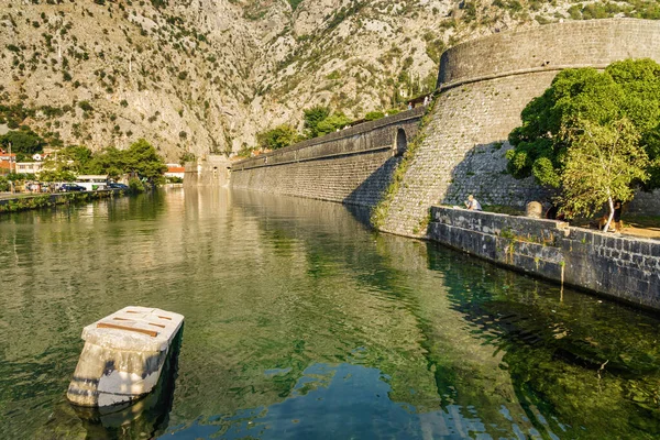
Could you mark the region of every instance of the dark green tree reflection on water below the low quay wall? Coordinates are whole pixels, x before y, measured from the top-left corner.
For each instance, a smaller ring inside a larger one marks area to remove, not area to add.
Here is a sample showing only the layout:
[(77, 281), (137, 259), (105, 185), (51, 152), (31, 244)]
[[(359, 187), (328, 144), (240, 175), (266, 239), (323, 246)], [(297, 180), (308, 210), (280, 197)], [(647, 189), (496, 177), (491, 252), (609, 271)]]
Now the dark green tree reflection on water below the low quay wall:
[(516, 399), (540, 432), (650, 438), (659, 431), (654, 318), (572, 292), (560, 301), (558, 287), (517, 275), (514, 282), (503, 270), (435, 264), (453, 308), (482, 343), (504, 354)]

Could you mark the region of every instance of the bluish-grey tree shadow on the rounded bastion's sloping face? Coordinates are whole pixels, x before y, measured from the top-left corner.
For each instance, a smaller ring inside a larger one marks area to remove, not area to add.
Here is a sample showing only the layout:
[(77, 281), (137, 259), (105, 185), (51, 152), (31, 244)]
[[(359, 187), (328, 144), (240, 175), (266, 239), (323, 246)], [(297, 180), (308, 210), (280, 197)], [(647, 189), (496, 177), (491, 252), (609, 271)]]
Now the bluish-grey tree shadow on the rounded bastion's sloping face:
[(534, 177), (516, 179), (506, 170), (507, 141), (477, 144), (452, 170), (443, 205), (463, 206), (469, 195), (482, 205), (525, 208), (530, 201), (549, 201), (549, 193)]

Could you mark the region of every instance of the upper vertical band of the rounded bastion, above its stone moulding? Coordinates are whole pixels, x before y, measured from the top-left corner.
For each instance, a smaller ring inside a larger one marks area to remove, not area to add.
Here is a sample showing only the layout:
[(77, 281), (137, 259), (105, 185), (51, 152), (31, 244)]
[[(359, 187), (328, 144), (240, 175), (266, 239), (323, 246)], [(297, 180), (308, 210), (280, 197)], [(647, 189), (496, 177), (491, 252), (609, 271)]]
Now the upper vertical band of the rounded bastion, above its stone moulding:
[(660, 22), (639, 19), (570, 21), (501, 32), (446, 51), (438, 86), (446, 89), (565, 68), (605, 68), (625, 58), (660, 59), (659, 38)]

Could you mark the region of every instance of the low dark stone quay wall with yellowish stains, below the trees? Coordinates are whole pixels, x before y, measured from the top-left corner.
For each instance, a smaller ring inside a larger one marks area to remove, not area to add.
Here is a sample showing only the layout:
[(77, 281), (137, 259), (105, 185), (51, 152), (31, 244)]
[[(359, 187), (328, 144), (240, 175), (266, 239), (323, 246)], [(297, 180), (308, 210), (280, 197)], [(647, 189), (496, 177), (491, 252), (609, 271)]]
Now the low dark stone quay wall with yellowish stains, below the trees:
[(431, 208), (428, 237), (510, 268), (660, 310), (660, 241), (461, 208)]

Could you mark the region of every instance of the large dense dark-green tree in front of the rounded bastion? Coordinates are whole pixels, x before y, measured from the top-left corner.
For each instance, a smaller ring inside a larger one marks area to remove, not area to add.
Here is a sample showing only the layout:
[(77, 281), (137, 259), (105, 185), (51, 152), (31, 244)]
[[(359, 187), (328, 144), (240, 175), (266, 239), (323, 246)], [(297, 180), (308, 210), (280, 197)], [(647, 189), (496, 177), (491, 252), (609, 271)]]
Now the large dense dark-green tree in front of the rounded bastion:
[(535, 176), (546, 187), (565, 189), (564, 172), (571, 163), (566, 156), (573, 142), (583, 142), (575, 133), (584, 132), (587, 124), (592, 131), (594, 125), (612, 130), (626, 120), (637, 130), (638, 145), (648, 160), (648, 178), (629, 185), (660, 187), (660, 65), (651, 59), (613, 63), (603, 73), (562, 70), (542, 96), (527, 105), (521, 119), (522, 124), (509, 134), (514, 148), (506, 154), (514, 177)]

